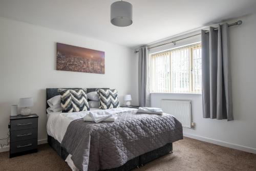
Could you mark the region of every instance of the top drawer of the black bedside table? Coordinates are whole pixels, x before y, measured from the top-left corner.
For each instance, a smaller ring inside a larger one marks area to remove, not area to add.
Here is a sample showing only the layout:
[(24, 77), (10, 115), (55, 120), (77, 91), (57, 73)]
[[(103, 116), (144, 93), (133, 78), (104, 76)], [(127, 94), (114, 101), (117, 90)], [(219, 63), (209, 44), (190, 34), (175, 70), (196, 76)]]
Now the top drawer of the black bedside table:
[(37, 127), (37, 118), (11, 120), (11, 131), (27, 130)]

